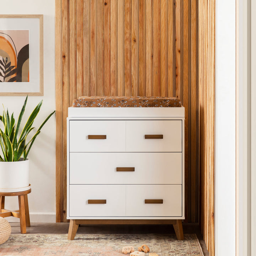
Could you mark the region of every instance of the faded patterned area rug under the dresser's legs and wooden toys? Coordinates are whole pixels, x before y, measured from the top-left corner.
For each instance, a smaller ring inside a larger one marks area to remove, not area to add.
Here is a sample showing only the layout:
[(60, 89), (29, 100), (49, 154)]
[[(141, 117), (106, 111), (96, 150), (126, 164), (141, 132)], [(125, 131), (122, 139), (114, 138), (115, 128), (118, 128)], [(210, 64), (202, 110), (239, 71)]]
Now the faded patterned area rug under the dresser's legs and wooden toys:
[(17, 234), (0, 245), (0, 256), (124, 256), (123, 246), (138, 250), (143, 244), (159, 256), (203, 256), (196, 234), (184, 239), (175, 234), (77, 234), (69, 241), (66, 234)]

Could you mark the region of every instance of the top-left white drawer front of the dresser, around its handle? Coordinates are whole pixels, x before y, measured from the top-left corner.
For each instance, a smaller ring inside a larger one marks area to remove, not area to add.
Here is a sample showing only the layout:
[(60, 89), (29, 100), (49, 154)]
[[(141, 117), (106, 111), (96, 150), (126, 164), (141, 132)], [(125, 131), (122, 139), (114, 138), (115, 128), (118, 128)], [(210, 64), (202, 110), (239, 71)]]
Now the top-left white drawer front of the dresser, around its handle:
[[(70, 120), (70, 152), (125, 151), (125, 121)], [(106, 135), (106, 139), (89, 139), (89, 135)]]

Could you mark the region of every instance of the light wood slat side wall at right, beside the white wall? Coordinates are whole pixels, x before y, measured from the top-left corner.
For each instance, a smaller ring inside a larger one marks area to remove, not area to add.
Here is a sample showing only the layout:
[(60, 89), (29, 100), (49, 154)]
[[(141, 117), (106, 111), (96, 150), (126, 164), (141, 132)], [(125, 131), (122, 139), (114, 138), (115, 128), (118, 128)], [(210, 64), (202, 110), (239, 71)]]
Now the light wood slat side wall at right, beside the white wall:
[(215, 253), (215, 0), (199, 0), (200, 221), (210, 256)]

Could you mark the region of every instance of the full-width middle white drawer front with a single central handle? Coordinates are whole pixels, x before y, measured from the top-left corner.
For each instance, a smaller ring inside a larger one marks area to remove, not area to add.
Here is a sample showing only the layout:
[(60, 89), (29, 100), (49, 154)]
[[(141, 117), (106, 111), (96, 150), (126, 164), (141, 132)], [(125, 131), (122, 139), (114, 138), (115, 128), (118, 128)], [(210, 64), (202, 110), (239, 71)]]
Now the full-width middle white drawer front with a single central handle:
[(70, 153), (70, 184), (181, 183), (182, 153)]

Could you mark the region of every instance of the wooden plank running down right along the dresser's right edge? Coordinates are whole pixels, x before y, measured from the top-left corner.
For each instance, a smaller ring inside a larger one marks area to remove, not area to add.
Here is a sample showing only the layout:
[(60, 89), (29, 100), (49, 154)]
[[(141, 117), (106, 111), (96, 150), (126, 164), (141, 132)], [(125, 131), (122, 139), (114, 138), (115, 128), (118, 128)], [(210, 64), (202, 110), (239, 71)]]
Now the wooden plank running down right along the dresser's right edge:
[[(188, 195), (191, 194), (188, 190), (188, 171), (189, 171), (189, 164), (188, 164), (188, 108), (189, 108), (189, 94), (188, 94), (188, 65), (190, 65), (188, 60), (188, 0), (183, 1), (183, 106), (185, 107), (185, 205), (188, 205)], [(191, 66), (191, 65), (190, 65)], [(188, 220), (188, 207), (185, 209), (185, 219)]]

